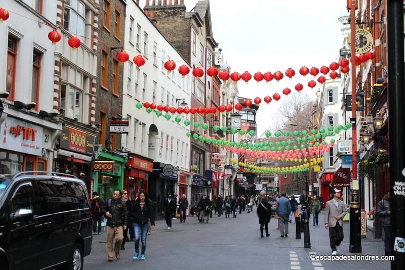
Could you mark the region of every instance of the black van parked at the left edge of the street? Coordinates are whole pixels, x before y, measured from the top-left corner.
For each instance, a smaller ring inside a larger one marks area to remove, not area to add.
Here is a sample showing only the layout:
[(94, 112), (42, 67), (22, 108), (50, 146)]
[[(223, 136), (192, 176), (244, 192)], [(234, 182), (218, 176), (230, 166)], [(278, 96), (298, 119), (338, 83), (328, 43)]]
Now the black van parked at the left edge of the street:
[(82, 270), (93, 240), (89, 205), (73, 175), (0, 175), (0, 268)]

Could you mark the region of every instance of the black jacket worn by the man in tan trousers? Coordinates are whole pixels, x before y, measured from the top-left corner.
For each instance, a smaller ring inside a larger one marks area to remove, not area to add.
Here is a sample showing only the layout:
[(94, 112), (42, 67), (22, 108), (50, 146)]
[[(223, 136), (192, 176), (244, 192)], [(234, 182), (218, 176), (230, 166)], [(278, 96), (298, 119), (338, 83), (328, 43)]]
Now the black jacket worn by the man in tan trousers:
[(107, 200), (104, 203), (101, 212), (103, 215), (105, 215), (107, 212), (109, 212), (112, 215), (111, 218), (105, 215), (105, 217), (107, 218), (107, 226), (111, 227), (128, 226), (129, 213), (127, 209), (127, 204), (123, 200), (121, 199)]

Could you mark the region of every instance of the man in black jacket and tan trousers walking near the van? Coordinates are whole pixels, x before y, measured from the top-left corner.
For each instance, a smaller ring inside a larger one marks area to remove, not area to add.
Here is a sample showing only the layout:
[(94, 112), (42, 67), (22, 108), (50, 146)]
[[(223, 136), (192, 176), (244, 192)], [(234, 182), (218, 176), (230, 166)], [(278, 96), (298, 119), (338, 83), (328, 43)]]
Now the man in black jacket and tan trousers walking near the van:
[[(115, 251), (115, 257), (119, 260), (119, 250), (123, 243), (123, 230), (128, 227), (128, 209), (127, 204), (121, 199), (121, 191), (114, 190), (112, 199), (109, 199), (102, 208), (102, 213), (107, 218), (107, 254), (108, 261), (112, 261)], [(113, 241), (115, 245), (113, 248)]]

